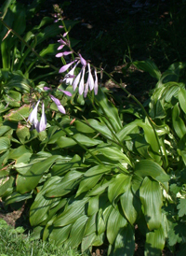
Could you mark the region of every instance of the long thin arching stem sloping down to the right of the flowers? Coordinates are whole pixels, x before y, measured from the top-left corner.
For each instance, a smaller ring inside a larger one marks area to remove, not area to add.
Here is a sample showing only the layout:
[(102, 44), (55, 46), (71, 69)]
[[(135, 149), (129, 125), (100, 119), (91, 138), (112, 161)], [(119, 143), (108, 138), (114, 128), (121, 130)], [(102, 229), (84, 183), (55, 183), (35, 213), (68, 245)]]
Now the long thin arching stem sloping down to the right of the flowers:
[(160, 149), (160, 152), (161, 152), (161, 155), (162, 155), (162, 159), (163, 159), (163, 163), (164, 163), (164, 166), (165, 166), (165, 169), (168, 168), (168, 159), (167, 159), (167, 155), (166, 155), (166, 150), (164, 150), (163, 152), (163, 149), (161, 147), (161, 144), (160, 144), (160, 141), (159, 141), (159, 137), (157, 135), (157, 132), (155, 130), (155, 127), (153, 125), (153, 121), (152, 119), (149, 117), (147, 111), (145, 110), (145, 108), (142, 106), (142, 104), (140, 103), (140, 101), (134, 96), (132, 95), (130, 92), (128, 92), (126, 90), (125, 87), (123, 87), (120, 83), (118, 83), (117, 81), (115, 81), (112, 76), (110, 74), (108, 74), (106, 71), (103, 71), (105, 75), (107, 75), (109, 78), (111, 78), (113, 80), (113, 82), (115, 84), (117, 84), (124, 92), (126, 92), (126, 94), (128, 95), (128, 97), (131, 97), (139, 106), (140, 108), (142, 109), (143, 113), (145, 114), (145, 116), (147, 117), (149, 123), (151, 124), (152, 128), (153, 128), (153, 133), (155, 135), (155, 138), (156, 138), (156, 141), (157, 141), (157, 144), (158, 144), (158, 147)]

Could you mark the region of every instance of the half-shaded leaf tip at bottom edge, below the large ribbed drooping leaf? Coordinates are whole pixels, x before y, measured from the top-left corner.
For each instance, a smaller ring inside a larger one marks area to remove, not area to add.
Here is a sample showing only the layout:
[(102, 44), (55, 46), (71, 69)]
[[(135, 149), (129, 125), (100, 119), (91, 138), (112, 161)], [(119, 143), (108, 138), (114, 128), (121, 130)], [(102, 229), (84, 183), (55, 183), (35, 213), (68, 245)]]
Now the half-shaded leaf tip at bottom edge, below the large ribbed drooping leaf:
[(146, 235), (145, 242), (145, 256), (153, 255), (159, 256), (161, 255), (162, 249), (165, 246), (165, 234), (162, 226), (159, 229), (156, 229), (152, 232), (148, 232)]

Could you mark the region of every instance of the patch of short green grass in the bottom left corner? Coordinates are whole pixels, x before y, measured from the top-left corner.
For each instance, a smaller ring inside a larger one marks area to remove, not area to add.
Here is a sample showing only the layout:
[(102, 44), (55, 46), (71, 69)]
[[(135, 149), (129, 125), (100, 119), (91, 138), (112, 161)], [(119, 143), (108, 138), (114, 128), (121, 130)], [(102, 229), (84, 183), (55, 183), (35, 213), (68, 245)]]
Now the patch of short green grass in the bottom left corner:
[[(80, 256), (74, 249), (63, 249), (48, 242), (32, 240), (24, 229), (14, 229), (0, 219), (0, 256)], [(84, 255), (85, 256), (85, 255)]]

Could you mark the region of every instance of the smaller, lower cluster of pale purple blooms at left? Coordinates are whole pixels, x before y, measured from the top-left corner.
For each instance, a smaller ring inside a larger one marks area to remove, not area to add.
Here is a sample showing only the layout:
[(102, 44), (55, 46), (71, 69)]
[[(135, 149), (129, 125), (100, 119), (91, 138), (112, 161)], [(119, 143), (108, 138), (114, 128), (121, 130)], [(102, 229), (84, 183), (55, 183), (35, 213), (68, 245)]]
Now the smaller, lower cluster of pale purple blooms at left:
[[(44, 87), (45, 91), (50, 91), (50, 88), (48, 87)], [(60, 90), (60, 89), (59, 89)], [(71, 92), (67, 92), (67, 91), (63, 91), (60, 90), (61, 92), (63, 92), (64, 94), (68, 95), (68, 96), (72, 96)], [(57, 99), (56, 97), (54, 97), (54, 95), (49, 93), (49, 97), (50, 99), (56, 104), (56, 106), (58, 107), (59, 111), (62, 114), (66, 114), (65, 108), (60, 104), (60, 100)], [(32, 128), (36, 129), (36, 131), (38, 133), (46, 130), (46, 114), (45, 114), (45, 105), (44, 103), (42, 103), (42, 114), (41, 114), (41, 119), (40, 121), (38, 121), (37, 119), (37, 112), (38, 112), (38, 106), (39, 106), (40, 100), (37, 101), (35, 107), (33, 107), (33, 111), (31, 112), (28, 121), (32, 124)]]

